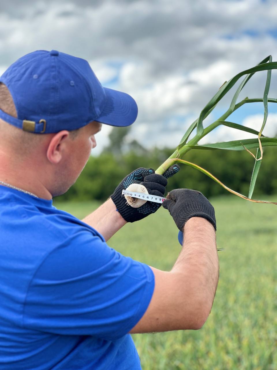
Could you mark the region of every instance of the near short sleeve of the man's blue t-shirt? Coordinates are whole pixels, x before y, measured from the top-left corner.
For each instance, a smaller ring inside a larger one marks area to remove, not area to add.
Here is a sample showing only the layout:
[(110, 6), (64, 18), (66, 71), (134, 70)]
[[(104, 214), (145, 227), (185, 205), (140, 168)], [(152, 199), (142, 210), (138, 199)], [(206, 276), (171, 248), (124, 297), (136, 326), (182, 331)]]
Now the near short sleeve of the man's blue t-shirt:
[(23, 325), (115, 340), (141, 319), (154, 291), (149, 266), (79, 230), (43, 260), (25, 297)]

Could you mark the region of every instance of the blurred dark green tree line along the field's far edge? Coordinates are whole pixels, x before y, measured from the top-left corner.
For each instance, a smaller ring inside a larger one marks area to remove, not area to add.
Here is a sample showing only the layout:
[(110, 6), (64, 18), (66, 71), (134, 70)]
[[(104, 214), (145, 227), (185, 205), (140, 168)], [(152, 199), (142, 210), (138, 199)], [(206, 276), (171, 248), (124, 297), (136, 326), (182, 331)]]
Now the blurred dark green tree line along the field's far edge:
[[(173, 148), (144, 149), (138, 142), (129, 144), (122, 135), (110, 134), (110, 145), (98, 157), (90, 157), (76, 183), (56, 201), (105, 201), (113, 193), (120, 181), (138, 167), (157, 169), (167, 159)], [(124, 150), (123, 150), (124, 149)], [(252, 151), (256, 154), (256, 150)], [(264, 148), (253, 198), (260, 194), (277, 193), (277, 148)], [(246, 151), (191, 150), (184, 159), (211, 172), (229, 188), (248, 196), (249, 184), (254, 166), (254, 158)], [(230, 194), (202, 172), (187, 165), (180, 165), (181, 171), (168, 180), (167, 191), (176, 188), (189, 188), (201, 191), (207, 198), (220, 194)]]

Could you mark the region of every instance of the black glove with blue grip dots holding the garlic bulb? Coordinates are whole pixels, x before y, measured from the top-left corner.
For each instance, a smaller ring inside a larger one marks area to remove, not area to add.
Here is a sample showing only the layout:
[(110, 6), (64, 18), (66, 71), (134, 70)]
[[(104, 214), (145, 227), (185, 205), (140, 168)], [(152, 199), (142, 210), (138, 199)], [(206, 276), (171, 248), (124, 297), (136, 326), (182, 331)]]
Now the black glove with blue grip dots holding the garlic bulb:
[(127, 222), (141, 220), (150, 215), (150, 213), (156, 212), (160, 208), (161, 203), (147, 201), (139, 208), (133, 208), (126, 204), (126, 199), (122, 196), (123, 189), (125, 190), (131, 184), (141, 184), (146, 187), (149, 194), (164, 196), (167, 179), (176, 174), (179, 169), (180, 167), (178, 165), (173, 165), (163, 175), (157, 175), (152, 168), (138, 168), (126, 176), (111, 195), (117, 211), (122, 215), (124, 220)]

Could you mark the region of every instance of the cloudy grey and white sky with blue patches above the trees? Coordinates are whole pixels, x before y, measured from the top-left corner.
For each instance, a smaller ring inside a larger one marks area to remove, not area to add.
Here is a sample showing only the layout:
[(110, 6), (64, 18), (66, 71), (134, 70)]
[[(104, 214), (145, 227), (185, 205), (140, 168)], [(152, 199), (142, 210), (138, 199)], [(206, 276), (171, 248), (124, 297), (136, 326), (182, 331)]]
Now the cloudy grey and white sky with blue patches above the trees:
[[(129, 139), (175, 147), (224, 81), (267, 55), (277, 58), (275, 0), (0, 1), (0, 73), (31, 51), (57, 49), (89, 61), (101, 83), (129, 93), (138, 118)], [(254, 75), (244, 97), (262, 97), (266, 73)], [(273, 71), (270, 97), (277, 97)], [(231, 90), (204, 121), (229, 106)], [(230, 121), (259, 130), (263, 104), (245, 104)], [(98, 154), (110, 127), (98, 137)], [(265, 135), (277, 132), (269, 104)], [(251, 138), (219, 127), (204, 142)]]

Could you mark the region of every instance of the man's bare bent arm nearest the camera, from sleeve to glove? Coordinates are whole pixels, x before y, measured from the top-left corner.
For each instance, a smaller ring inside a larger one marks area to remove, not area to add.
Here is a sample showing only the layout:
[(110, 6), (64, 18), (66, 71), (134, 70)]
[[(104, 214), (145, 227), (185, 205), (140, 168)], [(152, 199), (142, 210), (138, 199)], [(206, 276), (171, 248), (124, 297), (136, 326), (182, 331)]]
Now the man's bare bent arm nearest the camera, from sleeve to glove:
[(200, 329), (212, 308), (219, 264), (215, 229), (192, 217), (184, 227), (184, 244), (170, 272), (152, 269), (155, 288), (146, 313), (130, 333)]

